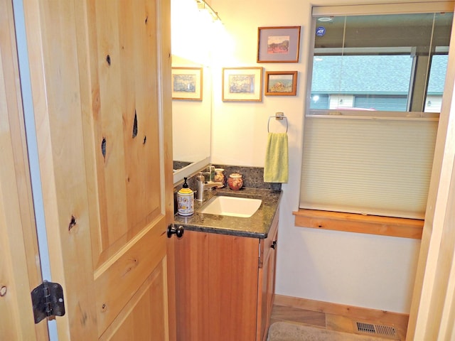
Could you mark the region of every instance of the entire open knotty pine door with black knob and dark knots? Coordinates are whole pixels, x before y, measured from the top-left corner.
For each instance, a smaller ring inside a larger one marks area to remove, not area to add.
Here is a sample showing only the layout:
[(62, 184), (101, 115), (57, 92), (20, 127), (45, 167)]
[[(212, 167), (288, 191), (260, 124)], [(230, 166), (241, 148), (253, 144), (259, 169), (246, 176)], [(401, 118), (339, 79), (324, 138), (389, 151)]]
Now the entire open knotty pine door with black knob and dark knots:
[(59, 340), (175, 340), (170, 0), (23, 0)]

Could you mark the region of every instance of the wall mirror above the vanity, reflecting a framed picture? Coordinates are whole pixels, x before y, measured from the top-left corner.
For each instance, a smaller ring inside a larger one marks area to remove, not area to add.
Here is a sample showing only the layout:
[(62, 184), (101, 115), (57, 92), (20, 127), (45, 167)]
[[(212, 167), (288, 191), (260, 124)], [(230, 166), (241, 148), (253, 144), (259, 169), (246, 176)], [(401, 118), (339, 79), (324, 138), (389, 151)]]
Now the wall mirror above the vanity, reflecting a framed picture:
[[(171, 0), (174, 183), (210, 163), (212, 82), (209, 65), (210, 34), (213, 33), (210, 26), (216, 18), (205, 6), (202, 0)], [(193, 68), (200, 69), (200, 96), (194, 94), (193, 85), (188, 85), (191, 89), (185, 93), (178, 83), (178, 77), (186, 82), (181, 73)]]

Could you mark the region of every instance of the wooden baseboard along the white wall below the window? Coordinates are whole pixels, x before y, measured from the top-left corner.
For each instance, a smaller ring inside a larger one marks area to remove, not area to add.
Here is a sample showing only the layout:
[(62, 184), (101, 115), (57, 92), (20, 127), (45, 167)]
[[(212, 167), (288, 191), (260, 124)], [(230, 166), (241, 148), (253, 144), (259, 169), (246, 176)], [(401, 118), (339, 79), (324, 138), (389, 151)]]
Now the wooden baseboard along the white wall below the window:
[(318, 311), (331, 315), (343, 316), (350, 320), (361, 320), (368, 323), (394, 325), (400, 330), (407, 329), (409, 314), (394, 313), (385, 310), (355, 307), (323, 301), (314, 301), (306, 298), (297, 298), (275, 294), (274, 305), (282, 305), (304, 310)]

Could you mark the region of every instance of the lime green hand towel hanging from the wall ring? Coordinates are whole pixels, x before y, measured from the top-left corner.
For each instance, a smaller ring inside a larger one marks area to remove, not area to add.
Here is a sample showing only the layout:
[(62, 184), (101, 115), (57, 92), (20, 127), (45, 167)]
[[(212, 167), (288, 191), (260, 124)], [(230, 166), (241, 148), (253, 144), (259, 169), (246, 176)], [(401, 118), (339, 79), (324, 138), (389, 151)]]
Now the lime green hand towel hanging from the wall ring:
[(269, 133), (265, 152), (264, 182), (287, 183), (287, 133)]

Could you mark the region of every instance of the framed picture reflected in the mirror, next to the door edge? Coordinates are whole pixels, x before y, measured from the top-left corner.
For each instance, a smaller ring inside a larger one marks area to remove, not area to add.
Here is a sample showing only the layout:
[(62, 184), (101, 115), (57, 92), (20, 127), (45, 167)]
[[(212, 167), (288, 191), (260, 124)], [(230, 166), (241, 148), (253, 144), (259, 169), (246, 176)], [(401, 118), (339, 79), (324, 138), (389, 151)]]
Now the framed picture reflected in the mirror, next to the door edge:
[(172, 99), (202, 101), (202, 67), (172, 67)]

